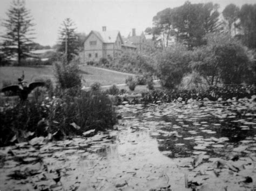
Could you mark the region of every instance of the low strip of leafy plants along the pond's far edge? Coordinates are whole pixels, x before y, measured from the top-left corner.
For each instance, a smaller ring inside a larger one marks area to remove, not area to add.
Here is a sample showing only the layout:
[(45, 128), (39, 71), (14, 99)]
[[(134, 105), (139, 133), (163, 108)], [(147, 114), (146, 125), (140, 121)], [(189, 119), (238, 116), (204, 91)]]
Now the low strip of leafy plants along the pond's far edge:
[(143, 93), (143, 101), (145, 103), (157, 103), (160, 102), (173, 102), (178, 100), (179, 97), (182, 98), (184, 102), (189, 99), (193, 100), (203, 100), (207, 98), (210, 101), (217, 101), (221, 98), (223, 101), (228, 99), (233, 99), (235, 97), (237, 100), (239, 98), (251, 98), (255, 94), (254, 86), (223, 86), (217, 87), (212, 86), (206, 90), (203, 89), (171, 89), (171, 90), (153, 90)]

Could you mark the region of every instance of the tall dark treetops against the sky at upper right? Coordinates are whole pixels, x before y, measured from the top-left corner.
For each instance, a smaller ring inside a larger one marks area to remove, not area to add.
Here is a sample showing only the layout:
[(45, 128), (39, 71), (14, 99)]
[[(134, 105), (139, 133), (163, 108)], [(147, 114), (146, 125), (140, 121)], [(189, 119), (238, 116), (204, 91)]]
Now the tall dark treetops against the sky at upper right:
[[(205, 35), (225, 32), (225, 26), (232, 36), (237, 36), (244, 45), (256, 48), (256, 4), (227, 5), (220, 19), (219, 5), (213, 3), (192, 4), (185, 2), (177, 8), (166, 8), (153, 17), (153, 27), (145, 32), (153, 35), (153, 40), (161, 37), (164, 48), (169, 46), (170, 37), (188, 47), (205, 45)], [(240, 31), (238, 33), (238, 31)]]

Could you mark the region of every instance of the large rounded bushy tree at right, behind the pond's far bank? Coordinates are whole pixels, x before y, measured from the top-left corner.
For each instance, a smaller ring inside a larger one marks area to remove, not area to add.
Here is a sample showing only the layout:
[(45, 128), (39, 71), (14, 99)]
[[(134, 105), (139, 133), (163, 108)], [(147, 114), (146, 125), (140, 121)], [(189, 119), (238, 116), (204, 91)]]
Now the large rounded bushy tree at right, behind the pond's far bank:
[(202, 75), (209, 85), (220, 82), (239, 84), (248, 73), (250, 56), (239, 41), (226, 34), (207, 36), (207, 45), (193, 52), (190, 66)]

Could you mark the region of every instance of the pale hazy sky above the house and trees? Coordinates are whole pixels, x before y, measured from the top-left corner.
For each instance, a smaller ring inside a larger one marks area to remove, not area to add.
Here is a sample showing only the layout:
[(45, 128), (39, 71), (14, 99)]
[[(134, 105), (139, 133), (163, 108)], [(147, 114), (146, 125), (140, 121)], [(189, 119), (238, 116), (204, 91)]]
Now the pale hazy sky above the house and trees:
[[(77, 32), (89, 34), (91, 30), (118, 30), (122, 36), (128, 36), (132, 29), (136, 34), (152, 26), (152, 18), (165, 8), (181, 6), (186, 0), (25, 0), (26, 8), (36, 23), (35, 42), (41, 45), (55, 45), (60, 24), (65, 18), (71, 18), (77, 26)], [(234, 3), (255, 4), (256, 0), (190, 0), (191, 3), (213, 2), (220, 5), (221, 12), (226, 5)], [(6, 19), (6, 11), (11, 0), (0, 0), (0, 23)], [(1, 24), (2, 25), (2, 24)], [(4, 34), (0, 26), (0, 35)]]

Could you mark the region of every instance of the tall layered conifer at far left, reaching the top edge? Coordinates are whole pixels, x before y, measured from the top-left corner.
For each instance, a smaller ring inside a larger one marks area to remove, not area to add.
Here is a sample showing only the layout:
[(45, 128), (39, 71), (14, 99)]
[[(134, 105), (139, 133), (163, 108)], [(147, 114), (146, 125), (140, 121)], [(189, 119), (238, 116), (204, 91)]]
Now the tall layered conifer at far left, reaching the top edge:
[(1, 49), (7, 59), (17, 56), (18, 65), (21, 65), (21, 59), (30, 57), (32, 35), (35, 34), (32, 27), (35, 24), (24, 1), (13, 0), (6, 15), (8, 18), (2, 23), (5, 34)]

